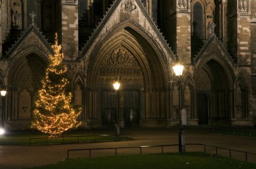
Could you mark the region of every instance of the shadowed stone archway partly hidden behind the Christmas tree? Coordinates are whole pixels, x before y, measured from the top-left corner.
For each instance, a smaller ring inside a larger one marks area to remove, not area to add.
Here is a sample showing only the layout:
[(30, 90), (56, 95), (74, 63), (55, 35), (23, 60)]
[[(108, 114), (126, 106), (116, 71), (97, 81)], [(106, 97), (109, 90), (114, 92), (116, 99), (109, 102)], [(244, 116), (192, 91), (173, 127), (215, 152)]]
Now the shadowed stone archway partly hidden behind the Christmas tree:
[(12, 128), (27, 129), (30, 124), (33, 99), (44, 75), (46, 61), (37, 54), (30, 53), (15, 60), (9, 68), (7, 118)]

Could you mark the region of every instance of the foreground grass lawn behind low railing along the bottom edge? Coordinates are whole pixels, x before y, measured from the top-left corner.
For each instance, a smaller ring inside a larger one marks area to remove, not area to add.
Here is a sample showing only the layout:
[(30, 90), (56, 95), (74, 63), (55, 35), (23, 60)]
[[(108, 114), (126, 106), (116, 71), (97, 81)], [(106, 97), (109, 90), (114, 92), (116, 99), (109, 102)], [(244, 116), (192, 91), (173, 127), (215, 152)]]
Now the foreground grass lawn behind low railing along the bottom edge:
[(227, 168), (256, 168), (256, 164), (241, 162), (221, 156), (210, 156), (203, 153), (186, 154), (148, 154), (134, 156), (104, 156), (96, 158), (75, 158), (48, 166), (34, 167), (33, 169), (53, 168), (90, 168), (90, 169), (227, 169)]

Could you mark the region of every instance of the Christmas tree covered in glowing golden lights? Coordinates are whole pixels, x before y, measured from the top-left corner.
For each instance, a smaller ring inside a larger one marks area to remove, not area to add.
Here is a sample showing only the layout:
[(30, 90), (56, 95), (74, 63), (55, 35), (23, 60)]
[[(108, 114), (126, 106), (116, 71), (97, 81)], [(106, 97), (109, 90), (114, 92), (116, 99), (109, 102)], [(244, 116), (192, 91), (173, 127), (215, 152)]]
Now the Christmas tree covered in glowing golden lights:
[(34, 102), (31, 126), (54, 137), (78, 127), (80, 122), (77, 117), (82, 109), (75, 110), (71, 106), (72, 94), (68, 90), (67, 66), (63, 64), (63, 53), (61, 45), (58, 45), (57, 34), (52, 48), (55, 55), (49, 56), (49, 66), (41, 81), (38, 98)]

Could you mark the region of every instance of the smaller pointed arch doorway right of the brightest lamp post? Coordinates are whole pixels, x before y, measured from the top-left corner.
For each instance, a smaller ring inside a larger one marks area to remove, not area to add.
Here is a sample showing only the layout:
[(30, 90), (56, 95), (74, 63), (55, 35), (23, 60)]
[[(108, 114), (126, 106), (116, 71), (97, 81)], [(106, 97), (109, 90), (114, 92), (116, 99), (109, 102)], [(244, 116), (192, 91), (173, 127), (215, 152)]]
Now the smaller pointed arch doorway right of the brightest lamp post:
[(208, 60), (195, 76), (199, 125), (230, 125), (230, 76), (214, 59)]

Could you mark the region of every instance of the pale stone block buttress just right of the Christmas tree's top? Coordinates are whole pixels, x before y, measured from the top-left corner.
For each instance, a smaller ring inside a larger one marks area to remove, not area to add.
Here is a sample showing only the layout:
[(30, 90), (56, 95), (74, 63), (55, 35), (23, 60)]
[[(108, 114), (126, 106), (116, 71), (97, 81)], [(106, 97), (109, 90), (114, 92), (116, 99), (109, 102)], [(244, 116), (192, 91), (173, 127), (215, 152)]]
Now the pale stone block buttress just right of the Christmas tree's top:
[(61, 1), (62, 50), (65, 60), (78, 56), (78, 1)]

